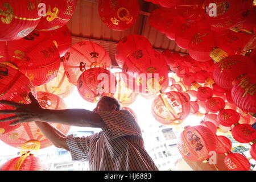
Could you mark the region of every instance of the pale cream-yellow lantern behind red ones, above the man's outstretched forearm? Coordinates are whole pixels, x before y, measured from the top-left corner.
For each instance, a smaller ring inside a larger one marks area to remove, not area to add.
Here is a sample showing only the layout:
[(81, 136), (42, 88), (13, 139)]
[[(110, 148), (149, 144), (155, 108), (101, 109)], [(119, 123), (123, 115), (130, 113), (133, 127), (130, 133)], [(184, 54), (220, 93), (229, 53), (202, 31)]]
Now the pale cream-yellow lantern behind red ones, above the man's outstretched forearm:
[(59, 96), (60, 98), (68, 97), (73, 90), (75, 89), (75, 85), (71, 84), (68, 81), (68, 77), (65, 73), (63, 63), (60, 64), (59, 72), (57, 73), (56, 78), (48, 83), (36, 86), (37, 92), (48, 92)]

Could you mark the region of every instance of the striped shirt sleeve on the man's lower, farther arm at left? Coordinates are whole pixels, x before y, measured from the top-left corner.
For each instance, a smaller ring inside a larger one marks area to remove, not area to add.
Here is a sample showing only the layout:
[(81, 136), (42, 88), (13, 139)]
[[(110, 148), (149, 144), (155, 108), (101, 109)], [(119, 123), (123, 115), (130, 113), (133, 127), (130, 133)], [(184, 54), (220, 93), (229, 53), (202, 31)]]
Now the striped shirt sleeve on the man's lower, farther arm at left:
[(90, 136), (74, 137), (73, 134), (66, 137), (68, 149), (71, 153), (72, 160), (88, 161)]

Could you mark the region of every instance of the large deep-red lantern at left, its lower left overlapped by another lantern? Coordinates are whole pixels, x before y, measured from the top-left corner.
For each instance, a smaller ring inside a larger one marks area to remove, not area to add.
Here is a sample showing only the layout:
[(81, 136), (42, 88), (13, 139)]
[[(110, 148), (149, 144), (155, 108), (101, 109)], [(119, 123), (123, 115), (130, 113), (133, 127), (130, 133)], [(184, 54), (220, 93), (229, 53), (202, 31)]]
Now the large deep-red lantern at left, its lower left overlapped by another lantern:
[(60, 55), (52, 38), (32, 31), (23, 39), (0, 42), (0, 63), (24, 73), (34, 86), (43, 85), (57, 76)]

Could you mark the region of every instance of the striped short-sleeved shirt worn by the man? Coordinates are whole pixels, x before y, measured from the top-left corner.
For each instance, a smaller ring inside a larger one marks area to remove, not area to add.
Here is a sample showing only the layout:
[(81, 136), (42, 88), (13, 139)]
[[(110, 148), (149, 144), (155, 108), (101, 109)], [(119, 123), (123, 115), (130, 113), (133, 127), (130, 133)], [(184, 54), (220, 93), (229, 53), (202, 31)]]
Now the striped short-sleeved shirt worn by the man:
[(92, 171), (158, 171), (144, 148), (141, 129), (129, 111), (98, 114), (108, 129), (88, 137), (66, 138), (73, 160), (89, 161)]

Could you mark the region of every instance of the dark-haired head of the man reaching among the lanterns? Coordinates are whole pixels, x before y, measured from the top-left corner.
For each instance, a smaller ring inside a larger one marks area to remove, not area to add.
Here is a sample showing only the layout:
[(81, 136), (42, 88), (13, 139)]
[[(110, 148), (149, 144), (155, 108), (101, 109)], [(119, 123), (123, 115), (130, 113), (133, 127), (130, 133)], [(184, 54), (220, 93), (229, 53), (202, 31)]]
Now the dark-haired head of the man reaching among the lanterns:
[(107, 96), (101, 97), (97, 106), (93, 109), (94, 112), (114, 110), (120, 110), (120, 104), (115, 98)]

